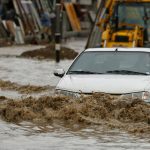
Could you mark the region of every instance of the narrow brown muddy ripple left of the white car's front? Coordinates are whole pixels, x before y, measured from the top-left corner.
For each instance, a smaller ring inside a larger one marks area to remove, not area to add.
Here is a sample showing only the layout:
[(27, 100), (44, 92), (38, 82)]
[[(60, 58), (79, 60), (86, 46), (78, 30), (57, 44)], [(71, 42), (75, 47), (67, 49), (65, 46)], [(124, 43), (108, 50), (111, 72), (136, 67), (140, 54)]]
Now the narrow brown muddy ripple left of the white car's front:
[(1, 90), (12, 90), (21, 94), (41, 93), (52, 90), (52, 88), (50, 86), (19, 85), (14, 82), (0, 80)]

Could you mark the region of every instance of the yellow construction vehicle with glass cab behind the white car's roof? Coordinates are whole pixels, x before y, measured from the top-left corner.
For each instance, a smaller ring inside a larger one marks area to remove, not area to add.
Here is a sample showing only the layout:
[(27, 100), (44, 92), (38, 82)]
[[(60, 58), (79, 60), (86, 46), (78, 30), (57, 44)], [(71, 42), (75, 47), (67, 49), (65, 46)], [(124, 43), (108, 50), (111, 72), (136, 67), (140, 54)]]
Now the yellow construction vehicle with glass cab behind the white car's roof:
[[(101, 47), (148, 47), (150, 0), (102, 0)], [(105, 2), (104, 2), (105, 1)]]

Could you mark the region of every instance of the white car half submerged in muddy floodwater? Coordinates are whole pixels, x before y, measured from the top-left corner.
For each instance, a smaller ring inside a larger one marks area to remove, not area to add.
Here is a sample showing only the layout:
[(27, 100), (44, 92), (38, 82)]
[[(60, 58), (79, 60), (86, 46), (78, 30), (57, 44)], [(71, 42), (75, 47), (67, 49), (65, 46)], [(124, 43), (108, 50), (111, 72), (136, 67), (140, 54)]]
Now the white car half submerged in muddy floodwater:
[(95, 92), (150, 100), (149, 48), (92, 48), (82, 52), (62, 77), (56, 92), (76, 96)]

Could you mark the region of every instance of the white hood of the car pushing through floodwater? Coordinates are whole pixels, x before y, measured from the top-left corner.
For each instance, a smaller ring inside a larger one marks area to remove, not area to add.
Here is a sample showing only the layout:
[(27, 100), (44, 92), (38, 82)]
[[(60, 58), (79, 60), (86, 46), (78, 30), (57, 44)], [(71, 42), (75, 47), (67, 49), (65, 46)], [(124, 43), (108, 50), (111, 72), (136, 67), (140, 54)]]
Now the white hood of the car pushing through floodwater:
[(142, 75), (66, 75), (56, 89), (72, 92), (125, 94), (150, 90), (150, 76)]

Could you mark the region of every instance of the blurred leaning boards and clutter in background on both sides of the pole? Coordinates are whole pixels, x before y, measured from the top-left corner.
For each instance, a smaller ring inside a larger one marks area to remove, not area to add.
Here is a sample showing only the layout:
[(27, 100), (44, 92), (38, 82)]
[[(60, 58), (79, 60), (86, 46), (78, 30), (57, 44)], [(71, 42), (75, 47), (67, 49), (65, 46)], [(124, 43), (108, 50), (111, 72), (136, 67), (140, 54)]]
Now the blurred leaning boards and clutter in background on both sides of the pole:
[[(89, 33), (95, 18), (97, 2), (61, 1), (62, 38)], [(51, 36), (55, 30), (55, 4), (56, 0), (0, 0), (0, 40), (23, 44), (53, 39)]]

